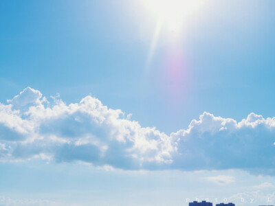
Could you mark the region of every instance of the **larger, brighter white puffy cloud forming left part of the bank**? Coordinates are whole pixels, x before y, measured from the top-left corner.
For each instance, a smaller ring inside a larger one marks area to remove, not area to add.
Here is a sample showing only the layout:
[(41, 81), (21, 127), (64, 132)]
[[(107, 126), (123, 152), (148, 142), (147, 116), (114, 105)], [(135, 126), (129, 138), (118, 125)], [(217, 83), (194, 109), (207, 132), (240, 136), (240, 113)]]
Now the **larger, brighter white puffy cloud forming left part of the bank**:
[(47, 106), (41, 99), (39, 91), (27, 88), (1, 104), (2, 161), (50, 157), (123, 169), (171, 162), (175, 148), (168, 135), (125, 119), (119, 109), (91, 96), (69, 105), (55, 100)]

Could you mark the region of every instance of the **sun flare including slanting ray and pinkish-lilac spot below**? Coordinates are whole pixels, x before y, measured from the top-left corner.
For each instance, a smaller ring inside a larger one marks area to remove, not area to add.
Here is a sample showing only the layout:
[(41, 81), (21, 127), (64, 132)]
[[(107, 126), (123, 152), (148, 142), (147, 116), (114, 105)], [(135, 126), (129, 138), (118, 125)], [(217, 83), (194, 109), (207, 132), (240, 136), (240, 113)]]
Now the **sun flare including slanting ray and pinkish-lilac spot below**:
[[(204, 3), (203, 0), (141, 0), (155, 18), (155, 31), (148, 50), (144, 77), (150, 71), (151, 61), (155, 56), (155, 49), (159, 44), (159, 38), (166, 43), (166, 51), (163, 52), (163, 73), (159, 88), (171, 102), (182, 102), (182, 95), (190, 88), (190, 63), (184, 52), (184, 31), (192, 24), (192, 20), (198, 16), (198, 10)], [(164, 34), (164, 35), (162, 35)], [(164, 38), (167, 37), (167, 42)]]

